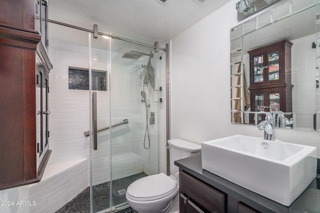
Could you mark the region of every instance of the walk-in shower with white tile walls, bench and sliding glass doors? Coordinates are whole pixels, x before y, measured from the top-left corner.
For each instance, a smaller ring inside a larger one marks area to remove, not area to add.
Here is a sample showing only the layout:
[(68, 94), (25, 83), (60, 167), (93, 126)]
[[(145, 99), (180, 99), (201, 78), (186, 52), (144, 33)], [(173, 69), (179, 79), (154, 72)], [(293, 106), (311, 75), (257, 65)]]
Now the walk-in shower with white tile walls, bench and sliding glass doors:
[(36, 205), (0, 212), (122, 213), (132, 182), (166, 172), (168, 45), (48, 21), (52, 154), (39, 183), (0, 191)]

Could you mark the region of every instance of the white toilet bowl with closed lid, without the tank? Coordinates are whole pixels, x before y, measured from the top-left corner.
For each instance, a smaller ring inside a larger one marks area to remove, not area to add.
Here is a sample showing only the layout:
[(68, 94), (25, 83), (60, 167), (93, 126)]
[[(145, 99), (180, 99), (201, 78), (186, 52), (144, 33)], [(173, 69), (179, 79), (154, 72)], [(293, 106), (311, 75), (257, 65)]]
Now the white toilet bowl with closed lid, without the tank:
[(139, 213), (165, 213), (178, 191), (175, 178), (160, 173), (133, 182), (125, 196), (130, 207)]

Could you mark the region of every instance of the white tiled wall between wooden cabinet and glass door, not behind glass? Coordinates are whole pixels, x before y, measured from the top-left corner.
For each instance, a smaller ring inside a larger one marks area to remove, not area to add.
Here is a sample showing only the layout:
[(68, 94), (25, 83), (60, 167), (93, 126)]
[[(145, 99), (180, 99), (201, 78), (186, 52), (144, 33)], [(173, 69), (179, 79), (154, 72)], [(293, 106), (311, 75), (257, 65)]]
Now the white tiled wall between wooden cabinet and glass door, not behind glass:
[(50, 40), (53, 64), (49, 77), (50, 156), (49, 164), (89, 157), (88, 91), (68, 89), (68, 66), (88, 68), (88, 47)]

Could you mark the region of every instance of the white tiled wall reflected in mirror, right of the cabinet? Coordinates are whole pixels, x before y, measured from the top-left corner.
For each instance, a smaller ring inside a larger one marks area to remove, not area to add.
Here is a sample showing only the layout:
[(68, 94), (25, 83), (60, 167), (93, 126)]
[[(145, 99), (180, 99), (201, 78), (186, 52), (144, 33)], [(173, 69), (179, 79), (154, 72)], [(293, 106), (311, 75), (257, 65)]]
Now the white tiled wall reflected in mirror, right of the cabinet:
[(296, 115), (296, 128), (313, 129), (316, 50), (310, 44), (314, 39), (315, 34), (312, 34), (291, 41), (292, 111)]

